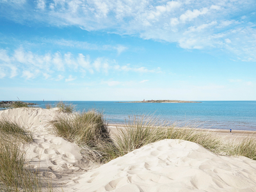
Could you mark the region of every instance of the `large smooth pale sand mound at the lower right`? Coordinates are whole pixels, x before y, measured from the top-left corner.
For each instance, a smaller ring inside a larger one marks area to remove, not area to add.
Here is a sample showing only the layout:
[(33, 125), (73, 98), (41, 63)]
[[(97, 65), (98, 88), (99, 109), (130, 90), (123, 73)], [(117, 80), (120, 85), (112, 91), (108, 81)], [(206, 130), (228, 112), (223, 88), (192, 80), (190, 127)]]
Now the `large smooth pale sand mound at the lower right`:
[(212, 154), (196, 143), (162, 140), (77, 180), (77, 191), (256, 191), (256, 162)]

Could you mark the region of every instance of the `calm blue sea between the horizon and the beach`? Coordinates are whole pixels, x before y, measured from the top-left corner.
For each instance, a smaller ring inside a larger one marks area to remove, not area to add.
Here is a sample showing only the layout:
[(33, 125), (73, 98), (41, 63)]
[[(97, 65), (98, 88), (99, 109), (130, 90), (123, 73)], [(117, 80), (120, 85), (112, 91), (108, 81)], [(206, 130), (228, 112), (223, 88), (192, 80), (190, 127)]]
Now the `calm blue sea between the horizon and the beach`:
[[(38, 107), (54, 106), (56, 100), (28, 100)], [(108, 124), (125, 124), (134, 117), (202, 129), (256, 131), (256, 101), (201, 101), (200, 103), (127, 103), (118, 101), (63, 101), (76, 111), (96, 109)]]

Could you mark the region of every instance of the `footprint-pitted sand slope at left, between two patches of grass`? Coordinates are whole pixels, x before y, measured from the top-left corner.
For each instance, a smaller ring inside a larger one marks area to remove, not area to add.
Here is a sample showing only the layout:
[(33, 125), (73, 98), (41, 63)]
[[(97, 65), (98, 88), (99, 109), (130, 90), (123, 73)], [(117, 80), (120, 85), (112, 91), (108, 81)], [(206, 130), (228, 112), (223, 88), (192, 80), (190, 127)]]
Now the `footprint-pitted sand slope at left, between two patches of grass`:
[(7, 119), (33, 132), (34, 142), (26, 145), (26, 159), (29, 167), (38, 169), (40, 175), (51, 179), (54, 188), (62, 184), (76, 183), (78, 175), (97, 167), (97, 164), (86, 161), (80, 154), (80, 148), (63, 138), (49, 132), (50, 121), (61, 115), (58, 108), (19, 108), (0, 111), (0, 119)]

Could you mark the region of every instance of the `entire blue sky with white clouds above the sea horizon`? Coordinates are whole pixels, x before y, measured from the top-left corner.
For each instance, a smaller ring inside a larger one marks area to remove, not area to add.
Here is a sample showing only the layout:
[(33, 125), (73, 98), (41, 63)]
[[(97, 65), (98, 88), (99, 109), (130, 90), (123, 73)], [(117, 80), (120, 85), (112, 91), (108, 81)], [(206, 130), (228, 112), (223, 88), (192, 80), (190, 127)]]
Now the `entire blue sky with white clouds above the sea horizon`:
[(255, 0), (0, 0), (0, 100), (256, 100)]

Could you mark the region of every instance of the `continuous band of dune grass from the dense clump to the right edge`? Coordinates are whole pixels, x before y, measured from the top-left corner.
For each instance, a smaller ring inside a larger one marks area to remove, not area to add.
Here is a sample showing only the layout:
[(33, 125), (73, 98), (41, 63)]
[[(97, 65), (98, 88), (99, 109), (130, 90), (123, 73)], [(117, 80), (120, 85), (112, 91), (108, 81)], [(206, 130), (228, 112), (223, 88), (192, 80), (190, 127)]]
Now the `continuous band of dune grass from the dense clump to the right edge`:
[(196, 125), (177, 127), (152, 116), (133, 116), (126, 124), (116, 127), (111, 137), (102, 113), (95, 110), (72, 116), (59, 116), (52, 124), (56, 135), (77, 143), (83, 148), (84, 156), (100, 163), (107, 163), (132, 150), (164, 139), (192, 141), (216, 154), (256, 159), (255, 138), (223, 143), (212, 132), (197, 129)]

